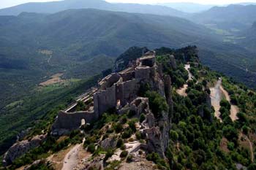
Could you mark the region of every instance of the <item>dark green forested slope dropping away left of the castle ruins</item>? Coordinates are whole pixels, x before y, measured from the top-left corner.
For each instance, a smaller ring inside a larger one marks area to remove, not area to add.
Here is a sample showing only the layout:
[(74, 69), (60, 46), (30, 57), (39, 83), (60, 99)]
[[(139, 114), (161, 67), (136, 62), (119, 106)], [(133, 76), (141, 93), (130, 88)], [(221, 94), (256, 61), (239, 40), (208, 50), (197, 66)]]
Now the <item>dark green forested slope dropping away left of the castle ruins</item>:
[(10, 106), (6, 110), (6, 115), (1, 115), (0, 119), (0, 153), (7, 150), (16, 141), (17, 134), (26, 128), (33, 127), (27, 136), (42, 134), (42, 130), (50, 131), (59, 110), (67, 107), (75, 97), (94, 86), (99, 77), (101, 76), (57, 90), (35, 91), (33, 96), (23, 98), (22, 105)]

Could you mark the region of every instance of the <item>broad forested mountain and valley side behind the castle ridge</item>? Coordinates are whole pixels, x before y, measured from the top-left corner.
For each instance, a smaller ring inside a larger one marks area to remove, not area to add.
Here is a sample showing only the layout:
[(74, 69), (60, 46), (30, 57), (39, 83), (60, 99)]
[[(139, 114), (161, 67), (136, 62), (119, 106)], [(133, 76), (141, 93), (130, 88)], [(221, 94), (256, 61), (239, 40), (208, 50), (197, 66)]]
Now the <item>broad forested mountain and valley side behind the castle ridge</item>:
[(223, 43), (211, 30), (189, 20), (99, 9), (1, 16), (1, 148), (10, 147), (9, 141), (28, 128), (27, 123), (50, 112), (49, 106), (63, 98), (65, 89), (72, 91), (80, 80), (111, 69), (127, 48), (187, 45), (197, 45), (207, 66), (255, 87), (254, 55)]

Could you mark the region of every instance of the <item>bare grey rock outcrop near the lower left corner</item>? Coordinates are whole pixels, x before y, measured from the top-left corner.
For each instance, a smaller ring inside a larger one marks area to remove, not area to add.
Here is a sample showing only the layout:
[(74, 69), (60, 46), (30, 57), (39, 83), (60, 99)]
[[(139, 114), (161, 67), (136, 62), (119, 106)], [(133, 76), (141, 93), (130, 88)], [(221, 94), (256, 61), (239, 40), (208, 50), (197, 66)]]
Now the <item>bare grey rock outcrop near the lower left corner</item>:
[(45, 141), (45, 139), (46, 135), (39, 135), (34, 136), (34, 138), (31, 139), (30, 141), (24, 140), (13, 144), (12, 147), (10, 147), (10, 149), (7, 150), (7, 152), (4, 154), (3, 165), (8, 166), (10, 163), (15, 161), (16, 158), (25, 154), (34, 147), (38, 147), (39, 144), (42, 144), (42, 142)]

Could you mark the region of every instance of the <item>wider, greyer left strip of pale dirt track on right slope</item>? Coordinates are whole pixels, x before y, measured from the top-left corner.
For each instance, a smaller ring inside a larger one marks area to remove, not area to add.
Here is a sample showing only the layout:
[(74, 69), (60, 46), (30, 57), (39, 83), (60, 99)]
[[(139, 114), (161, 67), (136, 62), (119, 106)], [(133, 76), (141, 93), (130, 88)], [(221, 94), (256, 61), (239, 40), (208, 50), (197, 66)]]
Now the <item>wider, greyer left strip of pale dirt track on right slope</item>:
[(214, 115), (217, 117), (221, 122), (222, 118), (220, 117), (220, 105), (219, 102), (222, 100), (222, 91), (220, 90), (220, 87), (222, 85), (222, 80), (218, 80), (214, 88), (210, 88), (211, 90), (211, 106), (214, 107)]

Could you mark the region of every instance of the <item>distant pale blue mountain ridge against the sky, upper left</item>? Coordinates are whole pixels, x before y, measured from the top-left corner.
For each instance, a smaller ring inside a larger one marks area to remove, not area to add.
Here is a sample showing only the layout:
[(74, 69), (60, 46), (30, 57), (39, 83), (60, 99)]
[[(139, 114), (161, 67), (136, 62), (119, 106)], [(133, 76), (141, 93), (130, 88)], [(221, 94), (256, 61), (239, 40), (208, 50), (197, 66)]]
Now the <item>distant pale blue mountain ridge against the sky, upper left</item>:
[(15, 7), (0, 9), (0, 15), (19, 15), (21, 12), (37, 12), (37, 13), (55, 13), (67, 9), (103, 9), (119, 12), (135, 12), (147, 13), (155, 15), (173, 15), (184, 16), (184, 12), (180, 12), (170, 7), (159, 5), (143, 5), (143, 4), (110, 4), (103, 0), (64, 0), (40, 3), (20, 4)]

